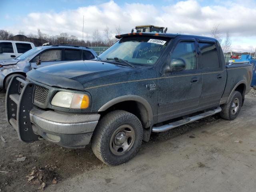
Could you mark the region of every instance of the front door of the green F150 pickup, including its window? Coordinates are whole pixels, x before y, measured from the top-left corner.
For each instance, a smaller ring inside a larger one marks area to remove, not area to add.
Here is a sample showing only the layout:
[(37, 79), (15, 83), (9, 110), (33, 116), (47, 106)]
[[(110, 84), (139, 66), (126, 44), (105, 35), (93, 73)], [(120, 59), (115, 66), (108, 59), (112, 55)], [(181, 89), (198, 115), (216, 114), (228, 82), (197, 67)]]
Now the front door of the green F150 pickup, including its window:
[[(197, 110), (202, 74), (198, 69), (194, 38), (181, 38), (172, 48), (158, 77), (158, 122), (190, 114)], [(172, 66), (182, 61), (182, 68)]]

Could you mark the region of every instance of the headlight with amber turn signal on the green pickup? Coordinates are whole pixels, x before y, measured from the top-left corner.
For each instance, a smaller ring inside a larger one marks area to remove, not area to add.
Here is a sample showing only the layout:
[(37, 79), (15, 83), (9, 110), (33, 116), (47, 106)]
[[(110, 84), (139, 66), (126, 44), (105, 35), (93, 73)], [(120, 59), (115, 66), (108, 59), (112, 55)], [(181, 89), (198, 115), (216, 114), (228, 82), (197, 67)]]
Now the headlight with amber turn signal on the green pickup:
[(89, 104), (89, 96), (86, 94), (60, 91), (52, 98), (52, 105), (70, 109), (86, 109)]

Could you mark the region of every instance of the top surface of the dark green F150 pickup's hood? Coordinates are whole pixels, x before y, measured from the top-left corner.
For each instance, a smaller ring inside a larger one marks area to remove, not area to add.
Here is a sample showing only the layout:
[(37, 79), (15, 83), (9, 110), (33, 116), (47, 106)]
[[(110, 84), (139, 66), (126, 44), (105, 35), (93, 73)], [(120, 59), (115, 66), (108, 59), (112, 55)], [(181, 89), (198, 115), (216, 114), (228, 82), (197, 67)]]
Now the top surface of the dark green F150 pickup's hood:
[(135, 68), (94, 60), (66, 62), (36, 69), (36, 71), (75, 80), (81, 84), (130, 70), (135, 70)]

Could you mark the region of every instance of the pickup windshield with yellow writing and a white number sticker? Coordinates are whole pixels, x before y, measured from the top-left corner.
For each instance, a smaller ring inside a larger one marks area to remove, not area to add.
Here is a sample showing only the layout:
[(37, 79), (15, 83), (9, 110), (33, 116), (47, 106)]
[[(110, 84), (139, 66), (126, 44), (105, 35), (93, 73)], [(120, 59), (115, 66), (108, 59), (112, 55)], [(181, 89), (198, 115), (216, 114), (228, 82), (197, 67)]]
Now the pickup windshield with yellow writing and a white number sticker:
[(154, 65), (165, 50), (170, 39), (160, 37), (124, 37), (100, 54), (102, 61), (120, 58), (132, 64)]

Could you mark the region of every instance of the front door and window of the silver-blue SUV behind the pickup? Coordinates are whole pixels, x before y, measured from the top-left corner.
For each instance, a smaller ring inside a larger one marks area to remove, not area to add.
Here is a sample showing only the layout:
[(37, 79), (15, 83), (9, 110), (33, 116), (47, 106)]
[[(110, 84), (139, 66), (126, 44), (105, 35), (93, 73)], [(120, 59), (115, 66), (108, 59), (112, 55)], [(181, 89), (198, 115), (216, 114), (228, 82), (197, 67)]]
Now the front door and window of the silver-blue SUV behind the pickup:
[[(41, 60), (40, 64), (37, 62)], [(31, 60), (31, 69), (36, 69), (43, 66), (61, 63), (62, 49), (48, 49), (40, 52), (36, 57)]]

